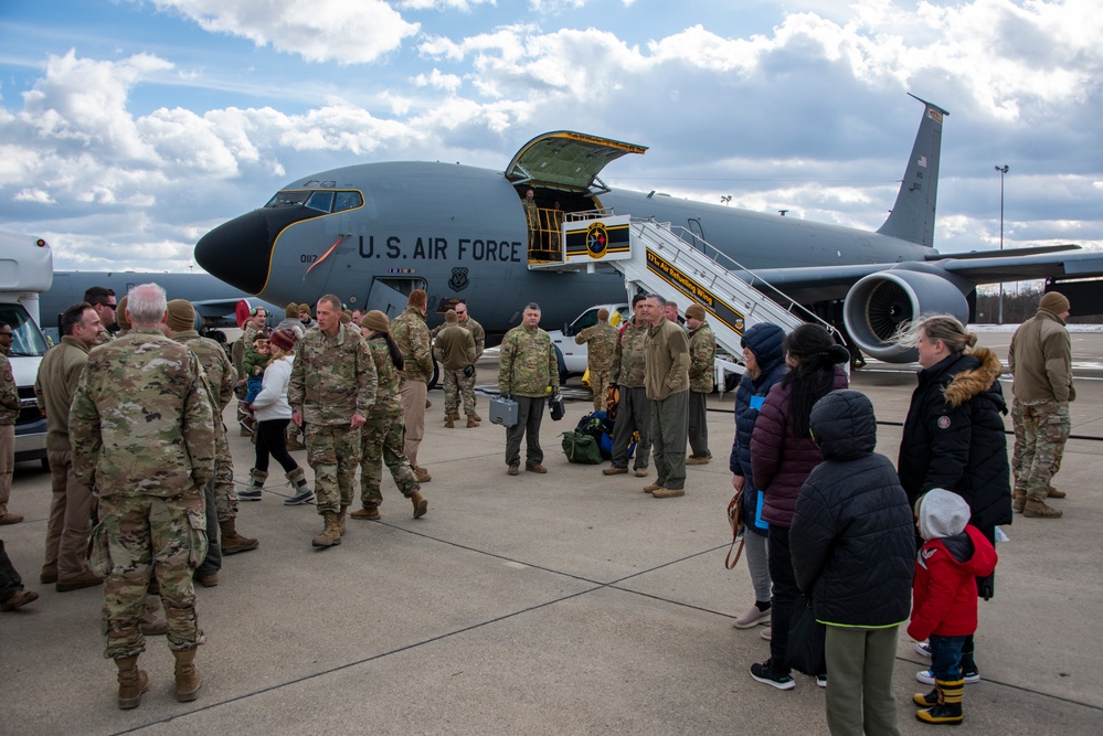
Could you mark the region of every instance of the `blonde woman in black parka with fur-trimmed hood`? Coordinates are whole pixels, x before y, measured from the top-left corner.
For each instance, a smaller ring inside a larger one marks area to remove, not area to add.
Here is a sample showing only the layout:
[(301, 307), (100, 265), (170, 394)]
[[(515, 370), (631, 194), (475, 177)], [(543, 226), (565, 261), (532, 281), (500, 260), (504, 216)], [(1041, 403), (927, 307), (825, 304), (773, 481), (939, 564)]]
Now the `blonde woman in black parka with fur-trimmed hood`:
[[(905, 328), (900, 341), (914, 345), (922, 369), (897, 462), (908, 502), (914, 506), (935, 488), (952, 491), (969, 505), (969, 523), (995, 544), (996, 525), (1011, 521), (1007, 404), (999, 386), (1004, 366), (991, 350), (977, 348), (977, 335), (948, 314), (919, 319)], [(977, 578), (977, 589), (986, 600), (991, 598), (993, 577)], [(916, 649), (930, 654), (926, 644)], [(965, 682), (980, 680), (973, 637), (962, 649), (962, 674)], [(931, 670), (915, 679), (934, 684)]]

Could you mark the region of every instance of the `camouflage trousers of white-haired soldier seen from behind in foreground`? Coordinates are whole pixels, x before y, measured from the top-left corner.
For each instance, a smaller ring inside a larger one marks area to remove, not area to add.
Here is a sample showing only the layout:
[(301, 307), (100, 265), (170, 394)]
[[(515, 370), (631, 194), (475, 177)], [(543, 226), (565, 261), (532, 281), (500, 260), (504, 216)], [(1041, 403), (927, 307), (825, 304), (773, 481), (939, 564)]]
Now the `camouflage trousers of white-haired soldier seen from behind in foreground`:
[(104, 657), (132, 657), (146, 649), (138, 628), (150, 574), (156, 573), (169, 649), (204, 642), (195, 617), (192, 573), (206, 555), (202, 493), (176, 498), (108, 495), (99, 499), (92, 568), (104, 576)]

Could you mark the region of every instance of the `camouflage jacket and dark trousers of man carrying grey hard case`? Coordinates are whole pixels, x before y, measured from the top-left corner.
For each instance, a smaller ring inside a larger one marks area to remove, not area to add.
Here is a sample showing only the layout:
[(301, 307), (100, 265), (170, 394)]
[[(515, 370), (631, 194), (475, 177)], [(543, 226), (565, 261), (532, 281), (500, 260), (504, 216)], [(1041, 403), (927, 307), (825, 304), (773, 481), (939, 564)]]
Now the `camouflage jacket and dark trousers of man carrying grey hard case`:
[(548, 403), (548, 387), (559, 393), (559, 364), (551, 338), (539, 327), (515, 327), (501, 341), (498, 388), (517, 401), (517, 424), (506, 429), (506, 465), (520, 463), (521, 438), (526, 438), (524, 465), (543, 462), (540, 420)]

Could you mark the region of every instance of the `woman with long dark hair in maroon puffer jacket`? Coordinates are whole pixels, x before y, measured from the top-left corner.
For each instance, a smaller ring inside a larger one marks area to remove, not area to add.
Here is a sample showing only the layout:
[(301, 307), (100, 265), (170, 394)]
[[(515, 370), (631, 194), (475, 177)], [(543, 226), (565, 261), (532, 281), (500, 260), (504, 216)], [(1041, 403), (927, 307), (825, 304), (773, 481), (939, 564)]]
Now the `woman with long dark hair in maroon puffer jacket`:
[(751, 435), (751, 468), (763, 491), (762, 518), (770, 524), (766, 546), (773, 580), (770, 659), (752, 664), (751, 676), (792, 690), (796, 683), (785, 654), (793, 599), (800, 590), (793, 574), (789, 525), (800, 487), (824, 460), (809, 433), (812, 407), (829, 392), (847, 387), (841, 364), (850, 352), (818, 324), (802, 324), (786, 335), (783, 346), (789, 372), (770, 390)]

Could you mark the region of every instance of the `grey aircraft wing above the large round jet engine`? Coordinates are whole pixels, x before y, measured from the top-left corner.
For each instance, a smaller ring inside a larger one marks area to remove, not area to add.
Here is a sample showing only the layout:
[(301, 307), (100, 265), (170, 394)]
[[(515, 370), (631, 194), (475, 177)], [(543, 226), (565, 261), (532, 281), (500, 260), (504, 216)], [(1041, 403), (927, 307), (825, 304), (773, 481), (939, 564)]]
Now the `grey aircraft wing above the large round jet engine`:
[(942, 271), (968, 282), (999, 284), (1032, 279), (1072, 279), (1103, 276), (1103, 253), (1047, 253), (1040, 255), (1006, 255), (995, 257), (955, 258), (891, 264), (853, 264), (813, 268), (761, 268), (754, 274), (791, 299), (812, 303), (824, 299), (842, 299), (855, 281), (870, 274), (890, 269)]

